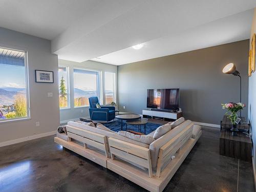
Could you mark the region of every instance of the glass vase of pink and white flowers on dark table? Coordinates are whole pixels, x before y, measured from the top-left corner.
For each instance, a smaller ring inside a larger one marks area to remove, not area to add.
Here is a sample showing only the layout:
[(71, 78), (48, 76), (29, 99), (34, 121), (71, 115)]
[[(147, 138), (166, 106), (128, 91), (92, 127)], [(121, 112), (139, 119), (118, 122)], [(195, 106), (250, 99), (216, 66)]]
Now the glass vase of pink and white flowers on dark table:
[(230, 112), (230, 114), (228, 114), (228, 112), (226, 112), (226, 115), (228, 116), (228, 118), (230, 119), (231, 123), (232, 123), (232, 128), (230, 129), (230, 131), (232, 132), (232, 136), (237, 136), (237, 132), (239, 131), (237, 129), (237, 124), (236, 124), (236, 120), (238, 118), (237, 112), (239, 112), (240, 110), (245, 108), (245, 104), (244, 103), (235, 103), (235, 102), (229, 102), (229, 103), (225, 103), (225, 104), (221, 104), (222, 105), (222, 109), (226, 109)]

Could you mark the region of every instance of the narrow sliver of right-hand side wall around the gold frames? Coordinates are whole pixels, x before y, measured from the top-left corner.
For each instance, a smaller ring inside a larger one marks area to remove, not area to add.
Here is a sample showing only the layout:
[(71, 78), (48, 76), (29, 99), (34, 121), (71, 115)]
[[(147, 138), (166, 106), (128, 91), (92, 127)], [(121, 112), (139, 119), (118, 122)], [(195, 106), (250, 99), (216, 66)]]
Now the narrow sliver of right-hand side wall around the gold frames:
[[(253, 33), (256, 33), (256, 8), (254, 9), (254, 15), (251, 26), (251, 36)], [(250, 38), (251, 42), (251, 38)], [(250, 44), (251, 48), (251, 44)], [(249, 93), (248, 93), (248, 119), (251, 122), (252, 129), (252, 140), (254, 143), (253, 147), (253, 164), (254, 164), (254, 179), (256, 177), (256, 72), (252, 73), (251, 77), (249, 77)]]

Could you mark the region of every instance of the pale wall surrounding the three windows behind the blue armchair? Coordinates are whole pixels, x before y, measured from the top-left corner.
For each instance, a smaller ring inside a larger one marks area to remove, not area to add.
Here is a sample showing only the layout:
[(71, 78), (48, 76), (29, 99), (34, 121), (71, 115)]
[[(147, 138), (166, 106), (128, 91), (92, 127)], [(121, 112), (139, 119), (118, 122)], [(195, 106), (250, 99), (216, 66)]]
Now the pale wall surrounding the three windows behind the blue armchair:
[[(84, 62), (73, 62), (68, 60), (59, 59), (59, 66), (69, 67), (69, 79), (70, 79), (70, 109), (60, 109), (60, 122), (64, 123), (69, 120), (78, 119), (80, 117), (89, 117), (89, 107), (74, 108), (74, 67), (82, 69), (91, 69), (102, 72), (102, 98), (104, 98), (104, 74), (105, 72), (116, 73), (116, 101), (118, 101), (117, 96), (117, 66), (109, 65), (106, 63), (96, 62), (96, 61), (84, 61)], [(103, 103), (104, 104), (104, 103)], [(83, 113), (81, 111), (83, 110)]]

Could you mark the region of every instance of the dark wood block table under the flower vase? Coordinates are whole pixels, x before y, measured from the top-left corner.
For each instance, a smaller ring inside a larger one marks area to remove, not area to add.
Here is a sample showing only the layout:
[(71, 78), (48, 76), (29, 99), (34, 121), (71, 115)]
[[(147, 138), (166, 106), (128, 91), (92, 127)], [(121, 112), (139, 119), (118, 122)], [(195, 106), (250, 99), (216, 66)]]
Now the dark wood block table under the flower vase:
[(251, 139), (250, 137), (246, 136), (247, 134), (243, 133), (247, 133), (247, 130), (249, 130), (248, 123), (242, 121), (241, 125), (238, 125), (238, 129), (241, 130), (240, 132), (238, 132), (238, 136), (232, 136), (231, 131), (229, 131), (232, 127), (232, 124), (230, 120), (228, 120), (229, 119), (227, 118), (227, 116), (224, 116), (221, 123), (220, 155), (251, 162)]

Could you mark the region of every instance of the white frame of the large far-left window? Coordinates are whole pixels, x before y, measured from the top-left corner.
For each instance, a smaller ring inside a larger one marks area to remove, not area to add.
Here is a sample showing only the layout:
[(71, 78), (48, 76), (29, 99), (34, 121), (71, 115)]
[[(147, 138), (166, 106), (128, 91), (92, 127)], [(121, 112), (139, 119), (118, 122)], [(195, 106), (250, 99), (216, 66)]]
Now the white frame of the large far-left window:
[(27, 101), (27, 116), (26, 117), (16, 117), (13, 119), (0, 119), (0, 123), (4, 122), (12, 122), (12, 121), (22, 121), (31, 119), (31, 109), (30, 109), (30, 89), (29, 89), (29, 69), (28, 69), (28, 50), (27, 49), (20, 49), (18, 47), (11, 47), (11, 46), (2, 46), (2, 49), (9, 49), (13, 51), (20, 51), (24, 52), (24, 68), (25, 68), (25, 89), (26, 89), (26, 101)]

